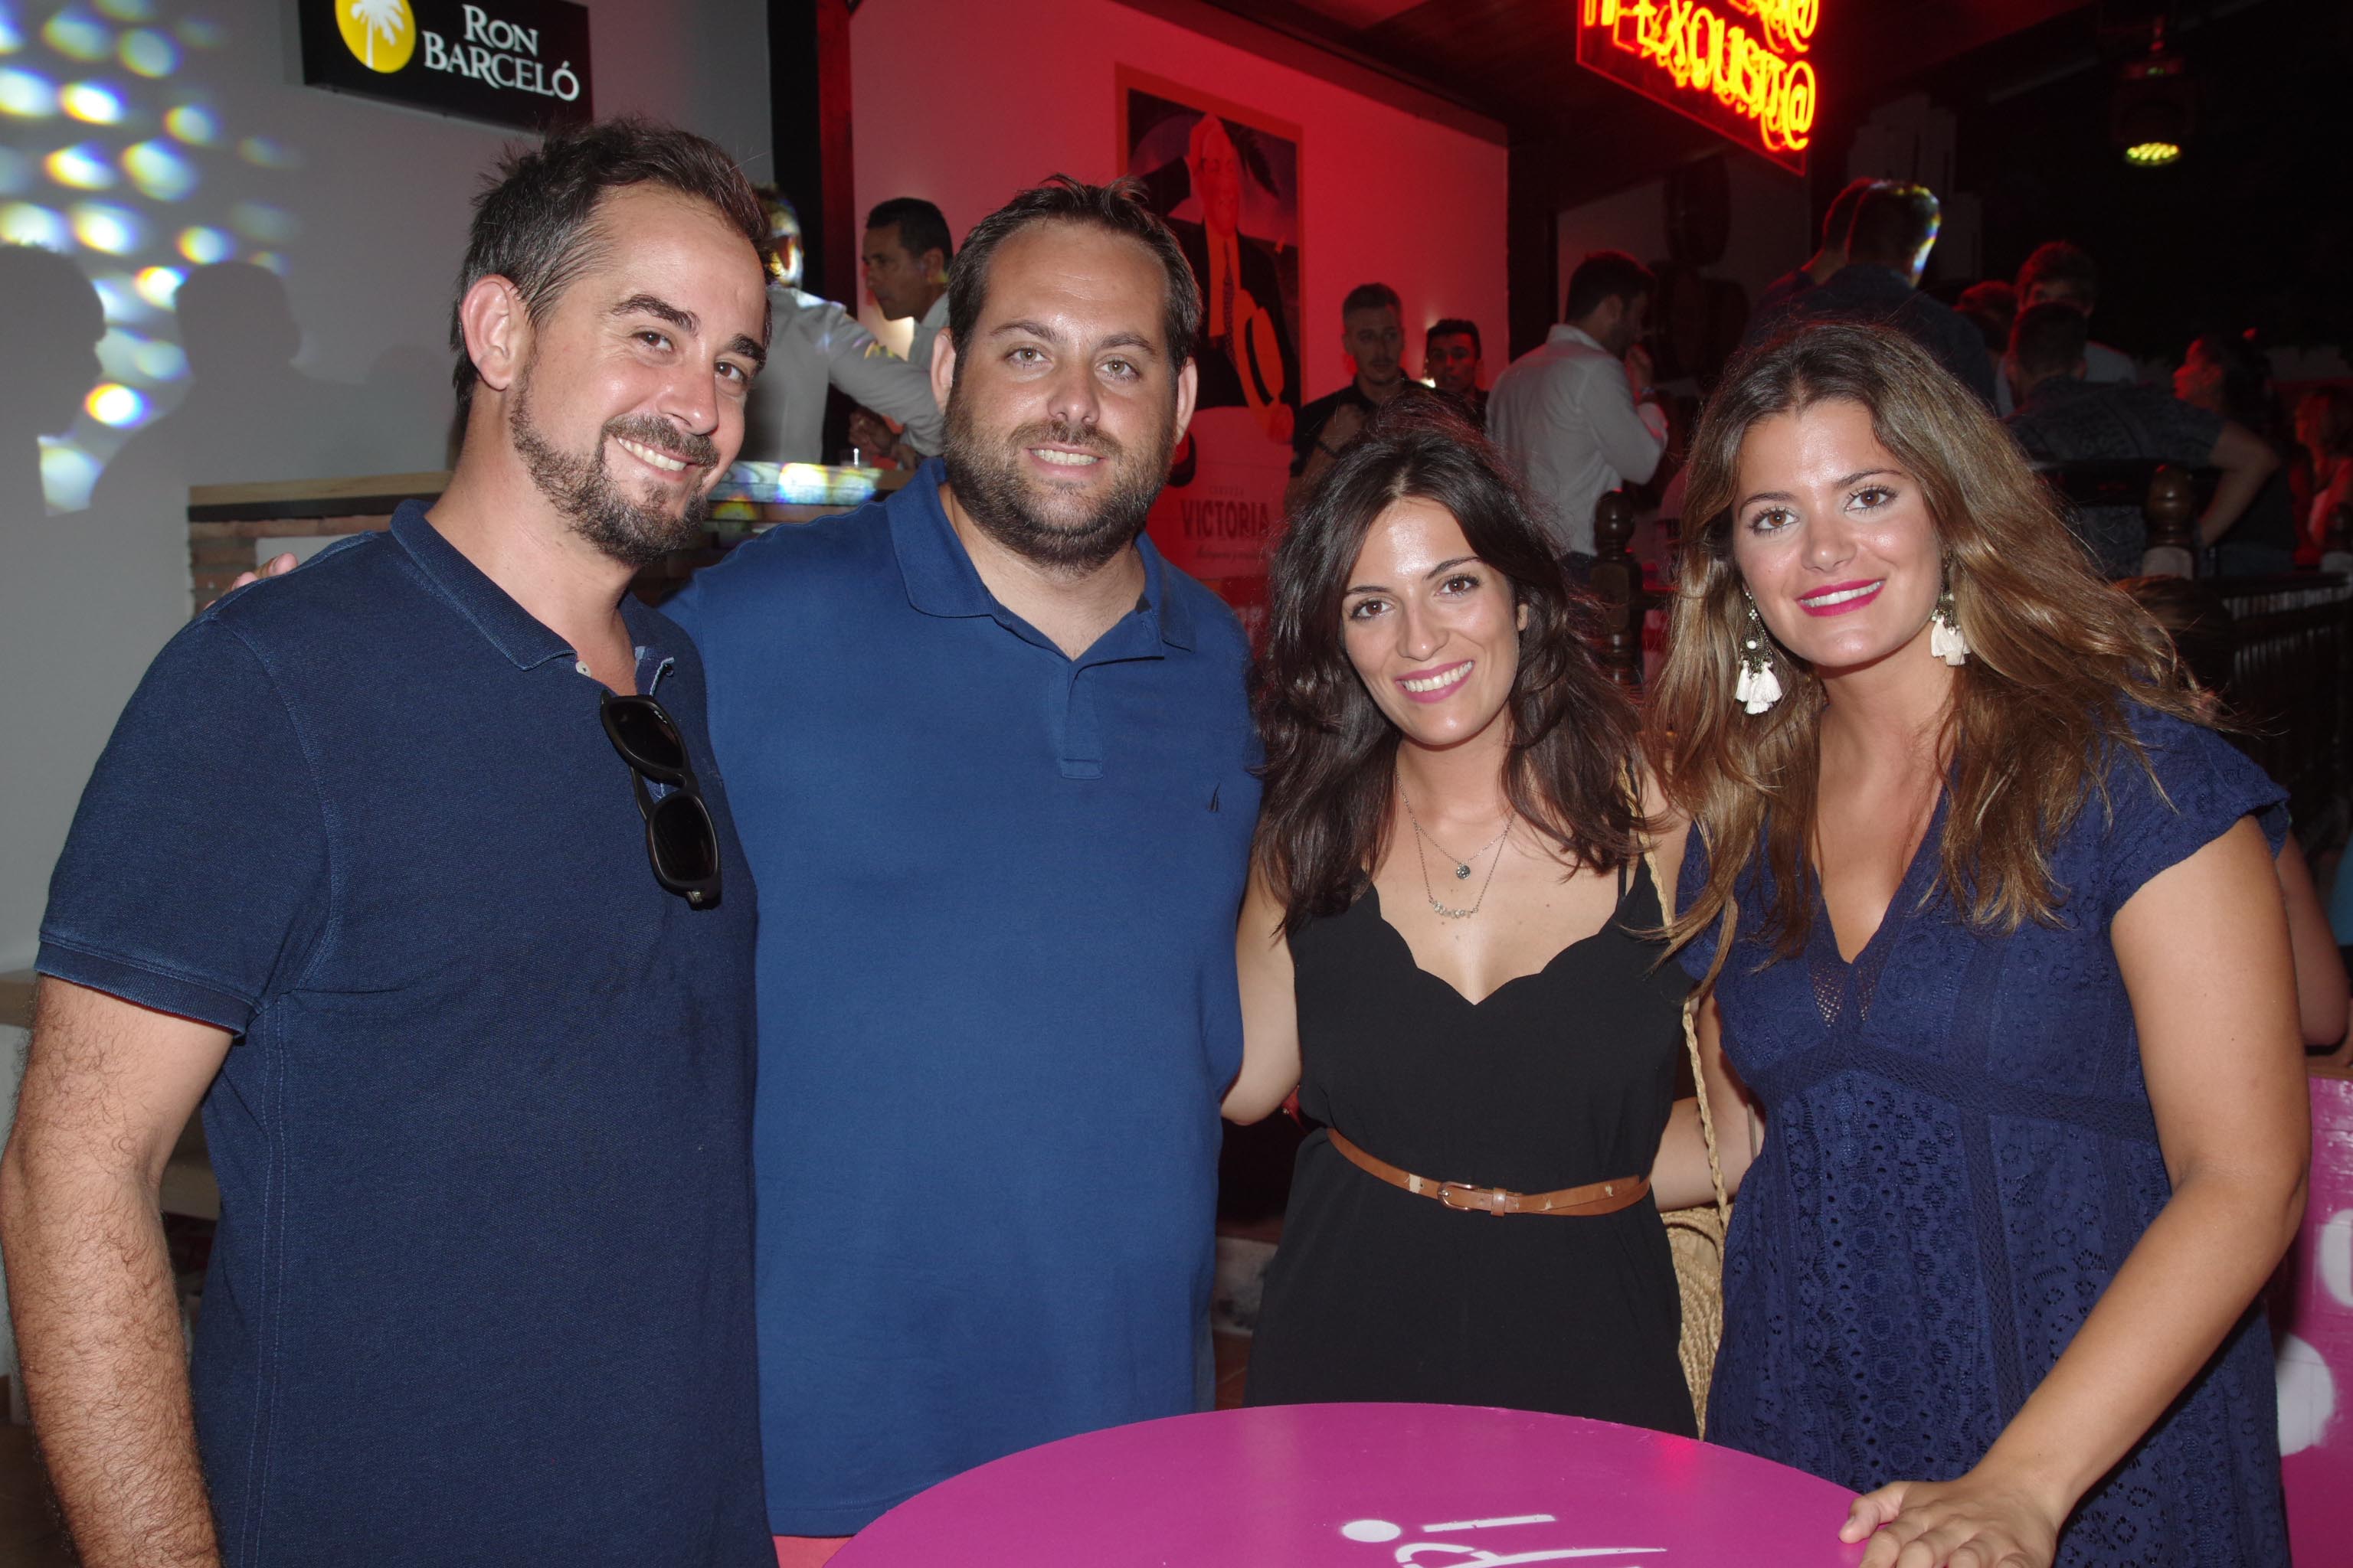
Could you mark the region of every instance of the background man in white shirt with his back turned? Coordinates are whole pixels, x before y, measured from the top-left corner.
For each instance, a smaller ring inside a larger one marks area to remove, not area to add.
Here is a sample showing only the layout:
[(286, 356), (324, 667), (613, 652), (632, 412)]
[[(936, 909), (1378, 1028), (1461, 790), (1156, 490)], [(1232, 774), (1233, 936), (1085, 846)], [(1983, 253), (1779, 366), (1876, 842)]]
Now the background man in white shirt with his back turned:
[(1649, 480), (1666, 451), (1666, 409), (1635, 341), (1654, 292), (1633, 256), (1593, 252), (1569, 275), (1560, 324), (1487, 393), (1487, 435), (1520, 465), (1572, 567), (1593, 562), (1593, 503)]

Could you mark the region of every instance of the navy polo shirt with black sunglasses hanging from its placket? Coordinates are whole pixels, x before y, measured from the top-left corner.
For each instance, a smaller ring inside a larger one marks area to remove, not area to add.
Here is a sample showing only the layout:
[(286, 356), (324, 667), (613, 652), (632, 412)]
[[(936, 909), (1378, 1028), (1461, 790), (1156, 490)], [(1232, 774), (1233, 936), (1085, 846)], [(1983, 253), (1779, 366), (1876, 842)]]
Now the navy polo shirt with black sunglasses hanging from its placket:
[(624, 616), (718, 910), (654, 884), (602, 686), (414, 503), (181, 630), (82, 795), (40, 969), (238, 1037), (191, 1366), (233, 1568), (774, 1563), (753, 879), (694, 649)]

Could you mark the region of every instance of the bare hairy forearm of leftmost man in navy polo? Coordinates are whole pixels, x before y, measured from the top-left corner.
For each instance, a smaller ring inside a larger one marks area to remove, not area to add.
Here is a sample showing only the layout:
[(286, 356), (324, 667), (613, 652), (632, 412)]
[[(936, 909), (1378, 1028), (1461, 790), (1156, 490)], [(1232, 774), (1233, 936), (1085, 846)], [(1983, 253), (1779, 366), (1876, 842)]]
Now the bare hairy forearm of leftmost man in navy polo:
[(92, 1568), (216, 1568), (155, 1197), (9, 1147), (0, 1244), (33, 1427)]

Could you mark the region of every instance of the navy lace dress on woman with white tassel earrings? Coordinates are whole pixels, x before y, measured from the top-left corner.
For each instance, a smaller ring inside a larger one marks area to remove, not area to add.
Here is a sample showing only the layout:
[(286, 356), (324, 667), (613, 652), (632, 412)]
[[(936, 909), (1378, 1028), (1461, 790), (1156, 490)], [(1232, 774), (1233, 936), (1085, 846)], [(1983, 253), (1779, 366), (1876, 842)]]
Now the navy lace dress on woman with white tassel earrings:
[[(1977, 936), (1934, 884), (1944, 809), (1878, 933), (1845, 964), (1817, 903), (1800, 959), (1737, 940), (1725, 1053), (1765, 1147), (1725, 1255), (1708, 1441), (1854, 1490), (1969, 1469), (2066, 1349), (2172, 1187), (2108, 922), (2160, 870), (2282, 792), (2219, 736), (2139, 715), (2165, 795), (2108, 766), (2061, 839), (2061, 926)], [(1706, 875), (1699, 835), (1680, 886)], [(1765, 905), (1751, 872), (1741, 907)], [(1704, 973), (1713, 938), (1685, 950)], [(2059, 1568), (2287, 1563), (2271, 1338), (2231, 1333), (2097, 1483)]]

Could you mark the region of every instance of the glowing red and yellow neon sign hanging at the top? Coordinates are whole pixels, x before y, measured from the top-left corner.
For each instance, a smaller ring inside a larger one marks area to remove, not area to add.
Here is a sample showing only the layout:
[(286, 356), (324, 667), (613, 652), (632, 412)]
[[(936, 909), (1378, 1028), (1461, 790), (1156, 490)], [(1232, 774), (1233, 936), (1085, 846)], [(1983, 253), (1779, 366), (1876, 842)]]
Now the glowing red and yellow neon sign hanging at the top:
[[(1821, 0), (1581, 0), (1577, 63), (1805, 174)], [(1732, 19), (1727, 12), (1741, 16)]]

